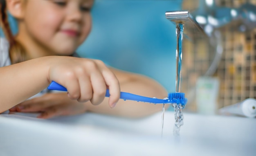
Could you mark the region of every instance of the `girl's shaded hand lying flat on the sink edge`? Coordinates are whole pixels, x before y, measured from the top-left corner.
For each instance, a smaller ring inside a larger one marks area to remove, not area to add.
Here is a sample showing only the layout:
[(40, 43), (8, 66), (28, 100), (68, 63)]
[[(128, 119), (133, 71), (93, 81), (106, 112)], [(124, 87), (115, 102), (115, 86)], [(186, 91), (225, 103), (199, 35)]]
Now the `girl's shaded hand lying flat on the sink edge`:
[(17, 112), (41, 112), (38, 118), (48, 119), (54, 116), (75, 115), (87, 111), (85, 103), (71, 100), (66, 93), (48, 93), (42, 97), (36, 97), (24, 101), (10, 111)]

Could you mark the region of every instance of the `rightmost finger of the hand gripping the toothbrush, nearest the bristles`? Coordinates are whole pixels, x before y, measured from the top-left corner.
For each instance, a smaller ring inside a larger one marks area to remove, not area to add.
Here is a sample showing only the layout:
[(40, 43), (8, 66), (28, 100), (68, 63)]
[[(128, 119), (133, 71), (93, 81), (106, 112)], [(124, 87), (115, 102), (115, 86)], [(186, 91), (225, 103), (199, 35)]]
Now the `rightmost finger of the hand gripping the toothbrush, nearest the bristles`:
[(115, 107), (117, 104), (117, 101), (120, 98), (120, 85), (117, 77), (114, 73), (112, 73), (111, 70), (109, 70), (107, 67), (103, 69), (102, 75), (105, 79), (105, 82), (109, 88), (110, 97), (108, 100), (108, 104), (111, 108)]

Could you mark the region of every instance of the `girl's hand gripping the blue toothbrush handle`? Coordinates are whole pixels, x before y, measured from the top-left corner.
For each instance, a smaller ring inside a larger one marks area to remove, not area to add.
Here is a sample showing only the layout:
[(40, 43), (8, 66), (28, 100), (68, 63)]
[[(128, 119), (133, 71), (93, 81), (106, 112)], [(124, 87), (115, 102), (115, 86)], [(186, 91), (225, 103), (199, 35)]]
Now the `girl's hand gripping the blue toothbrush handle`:
[(120, 97), (119, 81), (114, 73), (100, 60), (63, 57), (49, 66), (49, 82), (56, 81), (68, 91), (70, 99), (91, 101), (98, 105), (109, 88), (109, 105), (115, 107)]

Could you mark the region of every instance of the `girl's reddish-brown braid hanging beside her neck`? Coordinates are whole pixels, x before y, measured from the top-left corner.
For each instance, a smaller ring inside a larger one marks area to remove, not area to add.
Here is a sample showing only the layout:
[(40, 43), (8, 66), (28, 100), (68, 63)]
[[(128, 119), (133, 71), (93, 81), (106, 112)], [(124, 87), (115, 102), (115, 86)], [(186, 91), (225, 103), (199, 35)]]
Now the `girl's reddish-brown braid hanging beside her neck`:
[(11, 28), (8, 22), (8, 15), (7, 15), (7, 4), (6, 0), (0, 0), (0, 26), (6, 39), (8, 40), (10, 47), (9, 47), (9, 57), (11, 59), (11, 64), (16, 64), (19, 62), (23, 62), (27, 60), (25, 48), (15, 40), (11, 32)]

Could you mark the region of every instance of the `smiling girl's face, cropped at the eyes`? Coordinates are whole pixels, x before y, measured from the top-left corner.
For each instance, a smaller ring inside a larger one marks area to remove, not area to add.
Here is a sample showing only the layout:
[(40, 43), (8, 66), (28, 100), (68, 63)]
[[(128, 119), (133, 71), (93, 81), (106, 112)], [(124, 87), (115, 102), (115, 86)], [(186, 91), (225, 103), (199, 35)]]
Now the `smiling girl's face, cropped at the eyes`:
[(35, 42), (55, 55), (71, 55), (91, 30), (93, 0), (26, 0), (23, 21)]

